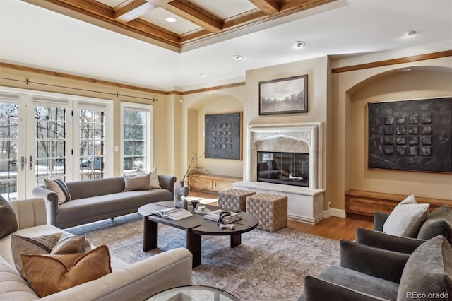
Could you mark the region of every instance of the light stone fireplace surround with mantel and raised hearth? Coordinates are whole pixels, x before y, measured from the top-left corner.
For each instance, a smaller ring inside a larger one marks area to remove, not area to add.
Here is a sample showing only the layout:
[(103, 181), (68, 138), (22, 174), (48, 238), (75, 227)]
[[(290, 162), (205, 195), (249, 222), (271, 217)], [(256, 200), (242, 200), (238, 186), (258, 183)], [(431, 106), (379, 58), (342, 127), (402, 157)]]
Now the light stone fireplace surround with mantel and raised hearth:
[[(317, 223), (323, 218), (322, 133), (321, 122), (250, 124), (244, 181), (234, 183), (234, 188), (287, 196), (288, 218)], [(257, 152), (271, 151), (272, 146), (274, 151), (309, 153), (309, 187), (256, 182)]]

